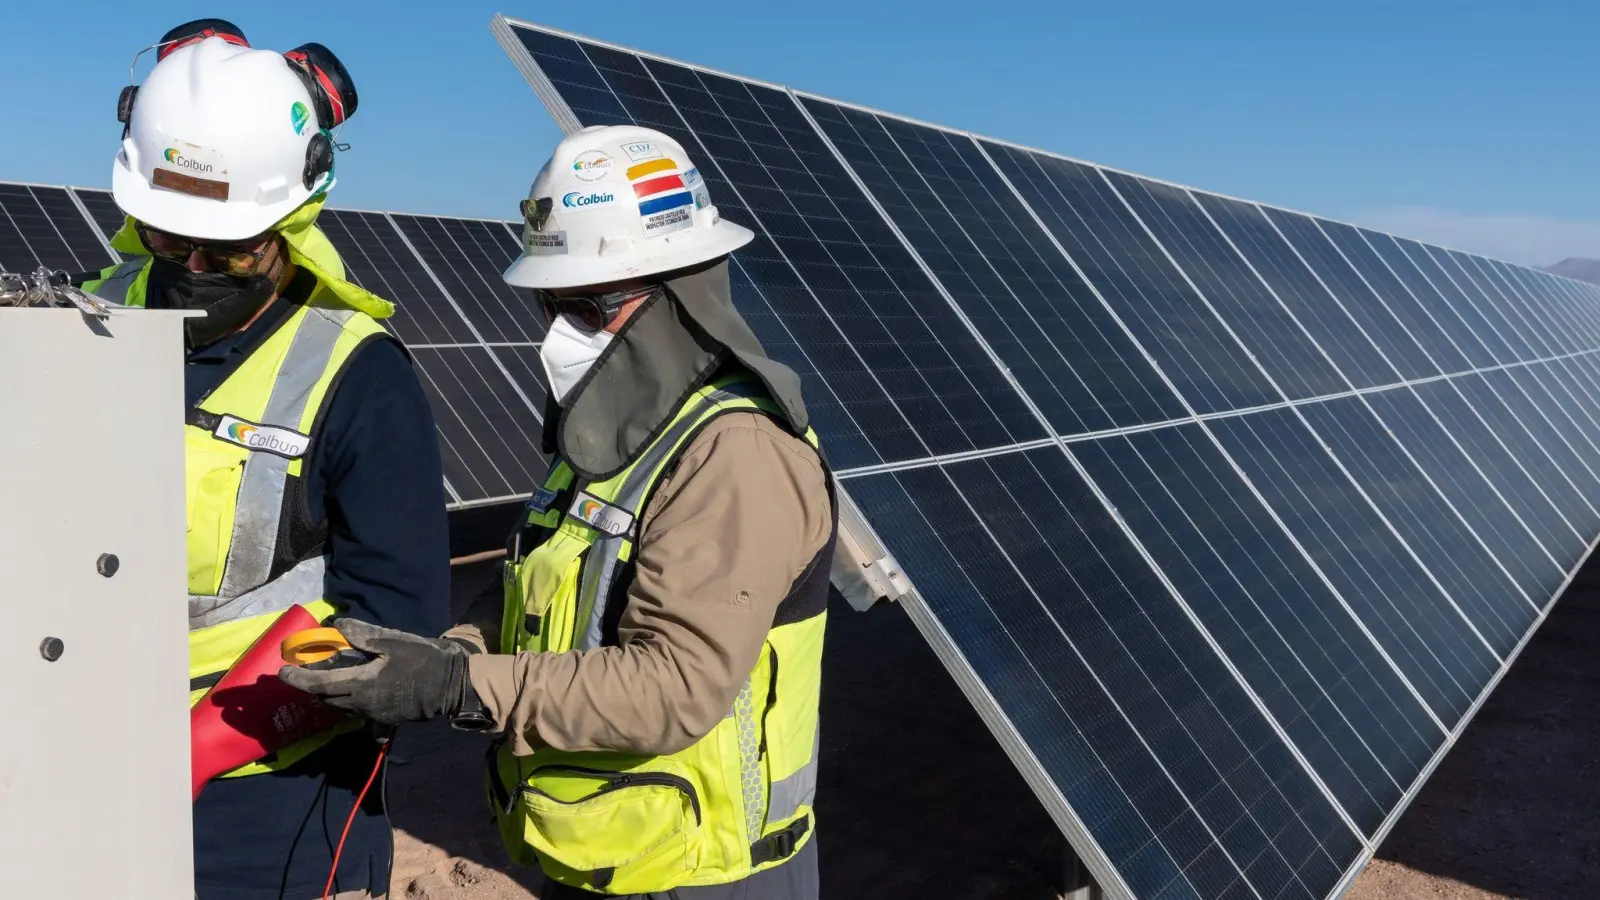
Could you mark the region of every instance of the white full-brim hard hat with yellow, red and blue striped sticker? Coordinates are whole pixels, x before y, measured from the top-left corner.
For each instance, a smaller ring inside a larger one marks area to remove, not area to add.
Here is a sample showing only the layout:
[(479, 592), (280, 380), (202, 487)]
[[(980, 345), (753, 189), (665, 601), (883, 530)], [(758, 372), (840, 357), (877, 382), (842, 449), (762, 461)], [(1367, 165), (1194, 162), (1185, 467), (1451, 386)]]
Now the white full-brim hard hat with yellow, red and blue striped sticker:
[(733, 253), (755, 237), (725, 221), (683, 147), (653, 128), (594, 125), (562, 139), (523, 203), (506, 282), (576, 288)]

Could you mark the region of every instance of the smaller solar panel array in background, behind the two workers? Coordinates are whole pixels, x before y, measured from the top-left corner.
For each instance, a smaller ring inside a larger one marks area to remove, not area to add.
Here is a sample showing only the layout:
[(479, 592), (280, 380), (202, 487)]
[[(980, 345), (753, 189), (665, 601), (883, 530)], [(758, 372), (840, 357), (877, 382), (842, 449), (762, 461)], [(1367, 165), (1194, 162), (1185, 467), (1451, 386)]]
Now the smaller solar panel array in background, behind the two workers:
[[(0, 183), (0, 269), (88, 272), (118, 261), (110, 192)], [(531, 291), (501, 272), (520, 226), (323, 210), (347, 275), (398, 307), (386, 325), (411, 352), (438, 426), (450, 506), (515, 501), (544, 479), (544, 336)]]

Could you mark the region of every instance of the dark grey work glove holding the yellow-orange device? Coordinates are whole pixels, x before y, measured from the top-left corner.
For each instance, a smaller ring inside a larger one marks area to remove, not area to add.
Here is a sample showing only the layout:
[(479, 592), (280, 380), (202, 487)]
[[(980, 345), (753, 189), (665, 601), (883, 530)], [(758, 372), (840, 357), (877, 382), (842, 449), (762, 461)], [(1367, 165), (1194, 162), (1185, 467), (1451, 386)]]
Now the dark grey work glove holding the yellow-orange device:
[(467, 650), (440, 637), (419, 637), (354, 618), (333, 626), (350, 647), (374, 657), (358, 666), (307, 669), (283, 666), (283, 684), (315, 693), (328, 706), (386, 725), (454, 716), (467, 690)]

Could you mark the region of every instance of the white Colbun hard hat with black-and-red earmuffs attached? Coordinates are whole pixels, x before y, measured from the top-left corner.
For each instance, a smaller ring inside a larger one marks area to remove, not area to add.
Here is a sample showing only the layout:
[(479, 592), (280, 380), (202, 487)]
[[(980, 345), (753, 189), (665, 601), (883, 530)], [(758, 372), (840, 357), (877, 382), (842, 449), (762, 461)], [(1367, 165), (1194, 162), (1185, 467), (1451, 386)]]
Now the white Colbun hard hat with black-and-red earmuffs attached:
[(325, 147), (312, 155), (328, 152), (326, 170), (306, 184), (318, 135), (317, 101), (283, 54), (206, 37), (173, 50), (138, 88), (112, 197), (184, 237), (254, 237), (333, 187)]

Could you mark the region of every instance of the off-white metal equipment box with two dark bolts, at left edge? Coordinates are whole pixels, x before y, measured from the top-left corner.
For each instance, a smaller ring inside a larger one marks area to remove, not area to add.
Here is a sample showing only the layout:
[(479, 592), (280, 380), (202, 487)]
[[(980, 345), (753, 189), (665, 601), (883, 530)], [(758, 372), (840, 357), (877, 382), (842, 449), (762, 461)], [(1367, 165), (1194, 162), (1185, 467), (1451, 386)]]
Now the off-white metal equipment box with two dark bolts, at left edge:
[(194, 897), (182, 319), (0, 309), (0, 897)]

